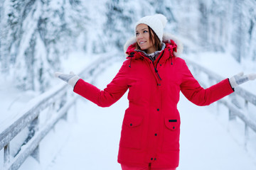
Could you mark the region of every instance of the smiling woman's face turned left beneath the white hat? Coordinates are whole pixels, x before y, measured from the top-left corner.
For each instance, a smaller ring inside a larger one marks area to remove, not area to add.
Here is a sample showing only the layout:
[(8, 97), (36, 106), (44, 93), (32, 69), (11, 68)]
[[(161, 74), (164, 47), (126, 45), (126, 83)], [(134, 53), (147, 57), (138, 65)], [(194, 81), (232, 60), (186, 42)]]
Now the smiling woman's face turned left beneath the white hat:
[[(154, 35), (152, 34), (152, 36)], [(142, 50), (145, 50), (147, 54), (151, 54), (156, 51), (154, 42), (151, 42), (149, 39), (149, 27), (144, 23), (139, 24), (136, 28), (136, 41), (139, 47)]]

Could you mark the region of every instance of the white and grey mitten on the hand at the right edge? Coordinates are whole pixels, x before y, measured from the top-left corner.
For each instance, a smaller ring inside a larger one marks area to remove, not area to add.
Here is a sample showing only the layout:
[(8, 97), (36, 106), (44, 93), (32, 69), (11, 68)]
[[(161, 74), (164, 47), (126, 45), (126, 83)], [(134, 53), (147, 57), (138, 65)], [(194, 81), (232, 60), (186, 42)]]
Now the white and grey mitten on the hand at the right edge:
[(239, 74), (236, 74), (233, 77), (230, 77), (229, 81), (230, 81), (230, 85), (233, 88), (235, 88), (235, 87), (239, 86), (240, 84), (245, 83), (246, 81), (254, 80), (254, 79), (256, 79), (255, 73), (244, 75), (243, 72), (241, 72)]

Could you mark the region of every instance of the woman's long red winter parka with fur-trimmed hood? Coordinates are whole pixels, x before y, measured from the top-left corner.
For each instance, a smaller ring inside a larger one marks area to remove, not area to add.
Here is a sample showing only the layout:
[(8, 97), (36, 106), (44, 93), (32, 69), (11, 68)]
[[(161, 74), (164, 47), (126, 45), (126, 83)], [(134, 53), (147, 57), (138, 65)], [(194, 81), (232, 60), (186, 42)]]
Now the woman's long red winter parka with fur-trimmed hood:
[[(169, 40), (169, 41), (168, 41)], [(118, 162), (153, 168), (176, 168), (179, 159), (180, 91), (189, 101), (206, 106), (233, 93), (228, 79), (203, 89), (186, 62), (176, 57), (181, 45), (172, 35), (164, 35), (165, 49), (154, 63), (135, 50), (136, 39), (127, 42), (127, 60), (103, 91), (80, 79), (77, 94), (107, 107), (129, 89), (119, 142)], [(176, 45), (178, 44), (178, 46)], [(126, 50), (126, 49), (125, 49)]]

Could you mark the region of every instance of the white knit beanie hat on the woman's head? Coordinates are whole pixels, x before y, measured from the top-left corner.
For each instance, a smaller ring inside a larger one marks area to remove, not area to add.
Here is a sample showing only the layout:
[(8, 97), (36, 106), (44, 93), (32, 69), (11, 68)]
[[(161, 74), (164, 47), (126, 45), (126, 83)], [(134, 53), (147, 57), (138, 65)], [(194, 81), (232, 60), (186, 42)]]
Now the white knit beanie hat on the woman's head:
[(137, 23), (135, 23), (135, 32), (136, 32), (137, 26), (141, 23), (144, 23), (150, 28), (152, 28), (152, 30), (154, 30), (159, 40), (160, 41), (163, 40), (164, 27), (166, 26), (166, 23), (167, 23), (166, 16), (162, 14), (155, 14), (153, 16), (144, 16)]

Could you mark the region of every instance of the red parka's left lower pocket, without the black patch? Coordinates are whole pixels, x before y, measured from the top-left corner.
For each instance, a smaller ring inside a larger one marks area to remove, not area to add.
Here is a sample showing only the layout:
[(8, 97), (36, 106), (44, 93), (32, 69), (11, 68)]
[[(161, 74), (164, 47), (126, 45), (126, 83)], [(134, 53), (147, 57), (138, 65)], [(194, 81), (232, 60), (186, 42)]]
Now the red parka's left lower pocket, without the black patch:
[(124, 115), (120, 147), (140, 149), (142, 145), (142, 120), (137, 115)]

